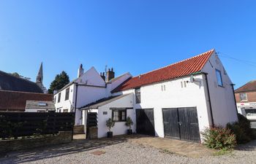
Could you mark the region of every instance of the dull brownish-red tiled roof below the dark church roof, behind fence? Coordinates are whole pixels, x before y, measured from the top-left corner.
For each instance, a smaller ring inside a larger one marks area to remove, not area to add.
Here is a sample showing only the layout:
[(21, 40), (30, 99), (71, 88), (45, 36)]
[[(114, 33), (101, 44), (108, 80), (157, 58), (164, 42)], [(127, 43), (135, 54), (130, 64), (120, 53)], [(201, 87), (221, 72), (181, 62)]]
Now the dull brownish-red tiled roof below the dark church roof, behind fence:
[(53, 95), (0, 90), (0, 110), (23, 112), (27, 100), (53, 101)]

